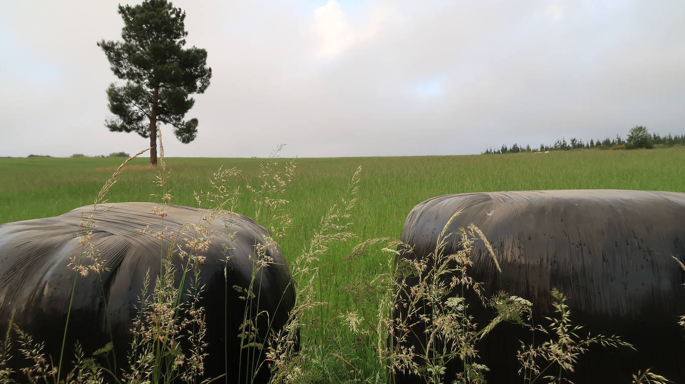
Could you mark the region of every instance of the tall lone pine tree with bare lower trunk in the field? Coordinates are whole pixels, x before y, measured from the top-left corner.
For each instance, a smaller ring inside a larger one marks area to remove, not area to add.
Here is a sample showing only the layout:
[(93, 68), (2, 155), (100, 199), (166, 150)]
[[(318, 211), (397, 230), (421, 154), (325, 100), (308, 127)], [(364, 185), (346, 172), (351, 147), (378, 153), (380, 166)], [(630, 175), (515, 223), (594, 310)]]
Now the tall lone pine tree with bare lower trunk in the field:
[(114, 132), (133, 132), (150, 138), (150, 165), (157, 165), (157, 124), (172, 125), (178, 140), (187, 144), (197, 136), (197, 118), (184, 120), (195, 99), (210, 85), (212, 68), (207, 51), (184, 49), (186, 12), (166, 0), (119, 5), (124, 21), (123, 41), (97, 43), (105, 51), (112, 72), (126, 80), (110, 84), (108, 107), (115, 115), (105, 120)]

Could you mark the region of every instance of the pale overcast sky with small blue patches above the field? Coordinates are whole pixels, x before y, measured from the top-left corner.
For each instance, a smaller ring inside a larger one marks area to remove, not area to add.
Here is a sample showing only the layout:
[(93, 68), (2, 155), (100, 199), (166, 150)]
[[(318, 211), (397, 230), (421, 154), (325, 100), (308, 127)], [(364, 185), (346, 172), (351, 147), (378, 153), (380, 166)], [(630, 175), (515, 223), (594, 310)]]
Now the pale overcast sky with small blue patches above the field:
[[(3, 1), (0, 156), (135, 153), (96, 42), (119, 1)], [(124, 1), (135, 4), (138, 1)], [(212, 81), (167, 156), (480, 153), (685, 133), (685, 1), (173, 1)]]

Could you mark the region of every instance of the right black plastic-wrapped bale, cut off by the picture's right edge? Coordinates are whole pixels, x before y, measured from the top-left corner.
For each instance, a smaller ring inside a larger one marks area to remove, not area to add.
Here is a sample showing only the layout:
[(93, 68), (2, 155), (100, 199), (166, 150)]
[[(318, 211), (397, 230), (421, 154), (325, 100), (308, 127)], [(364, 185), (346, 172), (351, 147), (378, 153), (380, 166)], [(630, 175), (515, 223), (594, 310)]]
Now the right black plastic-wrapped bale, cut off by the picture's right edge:
[[(530, 300), (534, 323), (547, 326), (545, 316), (553, 315), (550, 291), (556, 287), (567, 296), (575, 324), (584, 324), (593, 335), (621, 335), (636, 345), (637, 353), (593, 346), (569, 375), (576, 383), (627, 383), (631, 373), (650, 367), (685, 383), (685, 328), (677, 325), (685, 314), (685, 281), (672, 258), (682, 261), (685, 253), (684, 193), (546, 190), (438, 196), (412, 209), (401, 240), (412, 244), (416, 255), (429, 255), (447, 220), (460, 210), (448, 233), (477, 225), (501, 265), (499, 273), (482, 242), (476, 242), (469, 274), (484, 283), (488, 296), (504, 290)], [(457, 243), (451, 242), (446, 252), (456, 251)], [(493, 316), (478, 312), (479, 324)], [(505, 324), (478, 344), (491, 370), (488, 383), (520, 381), (518, 340), (530, 342), (530, 332)], [(396, 379), (412, 381), (409, 376)]]

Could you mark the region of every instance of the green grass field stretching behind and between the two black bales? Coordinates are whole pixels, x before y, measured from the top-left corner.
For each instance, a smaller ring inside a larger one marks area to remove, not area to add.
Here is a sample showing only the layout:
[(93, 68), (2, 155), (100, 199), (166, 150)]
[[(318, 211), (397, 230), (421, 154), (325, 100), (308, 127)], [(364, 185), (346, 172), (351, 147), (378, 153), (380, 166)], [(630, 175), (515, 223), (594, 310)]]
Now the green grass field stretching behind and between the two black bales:
[[(391, 302), (392, 285), (388, 282), (395, 276), (389, 262), (394, 254), (388, 253), (393, 251), (393, 246), (386, 246), (386, 252), (353, 249), (353, 242), (344, 242), (353, 232), (362, 239), (397, 238), (404, 217), (413, 205), (447, 193), (564, 188), (685, 192), (685, 180), (680, 177), (679, 168), (673, 166), (683, 164), (684, 159), (685, 151), (679, 148), (500, 156), (300, 159), (297, 182), (288, 188), (288, 212), (292, 216), (287, 217), (279, 214), (285, 207), (285, 199), (264, 197), (270, 183), (278, 183), (273, 179), (264, 180), (265, 174), (270, 175), (260, 166), (264, 159), (172, 158), (166, 161), (174, 170), (174, 203), (196, 205), (198, 195), (193, 196), (193, 189), (211, 178), (212, 170), (219, 166), (239, 168), (243, 170), (241, 175), (245, 184), (253, 185), (253, 192), (266, 192), (263, 196), (259, 193), (233, 194), (234, 200), (229, 204), (242, 207), (241, 212), (246, 214), (256, 212), (275, 232), (279, 226), (283, 230), (294, 229), (278, 242), (289, 260), (296, 255), (305, 257), (294, 262), (296, 277), (305, 276), (299, 274), (301, 270), (297, 268), (307, 272), (307, 278), (297, 277), (299, 287), (304, 289), (301, 292), (301, 297), (305, 298), (303, 303), (307, 304), (294, 315), (294, 324), (302, 330), (304, 350), (301, 355), (284, 352), (287, 347), (283, 346), (288, 345), (288, 340), (283, 335), (279, 336), (280, 340), (277, 337), (269, 349), (271, 363), (277, 371), (275, 377), (284, 381), (385, 382), (388, 380), (386, 367), (397, 362), (393, 360), (397, 356), (390, 357), (390, 352), (384, 349), (382, 336), (388, 327), (384, 322)], [(6, 181), (0, 185), (0, 221), (53, 216), (91, 203), (92, 196), (98, 195), (103, 175), (111, 174), (116, 163), (116, 159), (108, 158), (0, 159), (0, 175)], [(155, 181), (157, 185), (151, 183), (154, 175), (144, 164), (144, 160), (133, 160), (129, 164), (131, 168), (119, 175), (116, 188), (110, 191), (110, 201), (148, 201), (150, 194), (160, 193), (159, 177)], [(333, 211), (329, 210), (332, 196), (345, 194), (348, 188), (345, 175), (358, 165), (365, 172), (353, 181), (353, 185), (361, 183), (363, 188), (355, 191), (354, 198), (350, 196)], [(266, 187), (262, 188), (264, 185)], [(216, 186), (212, 185), (210, 189), (216, 189)], [(164, 199), (168, 193), (162, 192)], [(351, 199), (356, 199), (356, 205), (349, 204)], [(345, 207), (342, 212), (335, 211), (341, 207)], [(260, 209), (269, 212), (262, 214)], [(319, 220), (322, 214), (323, 222)], [(323, 244), (325, 231), (321, 229), (326, 228), (327, 220), (332, 218), (347, 221), (335, 222), (328, 228), (349, 235), (332, 239), (341, 242), (326, 243), (324, 248), (312, 246)], [(313, 242), (312, 233), (314, 238), (319, 236), (318, 243)], [(469, 337), (475, 337), (478, 332)], [(453, 352), (448, 355), (450, 359), (465, 357)], [(430, 361), (432, 357), (424, 354), (424, 360)], [(464, 372), (478, 377), (477, 368), (471, 365)], [(437, 364), (424, 368), (423, 372), (436, 379), (440, 377)], [(640, 374), (644, 376), (647, 372)]]

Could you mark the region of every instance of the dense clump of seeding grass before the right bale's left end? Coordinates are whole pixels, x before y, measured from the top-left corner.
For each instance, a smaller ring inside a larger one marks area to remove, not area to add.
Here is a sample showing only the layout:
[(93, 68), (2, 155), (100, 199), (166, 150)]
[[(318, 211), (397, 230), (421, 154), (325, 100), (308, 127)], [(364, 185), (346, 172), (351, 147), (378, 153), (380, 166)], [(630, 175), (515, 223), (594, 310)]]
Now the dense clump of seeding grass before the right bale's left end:
[[(497, 324), (523, 323), (530, 315), (530, 302), (499, 292), (488, 303), (497, 316), (484, 327), (475, 323), (471, 316), (474, 303), (466, 298), (467, 292), (477, 298), (477, 305), (485, 305), (487, 300), (481, 283), (468, 274), (473, 266), (471, 253), (476, 240), (486, 246), (489, 243), (475, 225), (449, 233), (459, 214), (449, 218), (430, 255), (415, 255), (408, 245), (398, 248), (388, 349), (388, 368), (393, 374), (421, 376), (427, 383), (484, 383), (489, 368), (478, 362), (477, 342)], [(451, 240), (453, 235), (458, 240)], [(458, 241), (457, 251), (447, 254), (452, 241)], [(491, 255), (499, 270), (494, 253)], [(446, 377), (447, 367), (456, 361), (462, 362), (462, 370), (455, 377)]]

